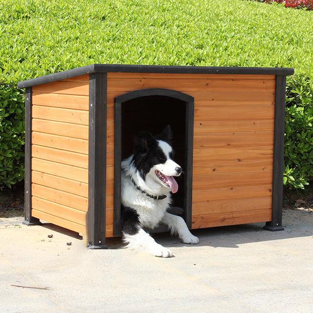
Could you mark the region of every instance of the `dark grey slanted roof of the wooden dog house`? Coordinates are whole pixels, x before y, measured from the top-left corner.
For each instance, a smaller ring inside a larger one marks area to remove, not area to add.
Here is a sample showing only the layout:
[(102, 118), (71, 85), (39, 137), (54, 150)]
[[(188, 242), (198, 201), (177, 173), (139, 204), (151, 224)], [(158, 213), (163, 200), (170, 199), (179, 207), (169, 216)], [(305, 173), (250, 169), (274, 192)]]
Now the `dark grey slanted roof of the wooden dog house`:
[(119, 65), (90, 64), (63, 72), (27, 79), (18, 83), (18, 88), (27, 88), (91, 73), (161, 73), (161, 74), (263, 74), (292, 75), (293, 68), (288, 67), (191, 67), (160, 65)]

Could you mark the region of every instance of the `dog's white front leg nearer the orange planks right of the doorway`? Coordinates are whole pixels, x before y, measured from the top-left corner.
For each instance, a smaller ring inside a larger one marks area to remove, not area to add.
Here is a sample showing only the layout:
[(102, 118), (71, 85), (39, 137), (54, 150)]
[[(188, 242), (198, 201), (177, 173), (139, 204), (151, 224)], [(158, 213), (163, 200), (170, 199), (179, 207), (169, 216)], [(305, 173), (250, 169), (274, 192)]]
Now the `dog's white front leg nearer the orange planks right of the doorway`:
[(199, 239), (189, 231), (185, 221), (180, 216), (165, 212), (162, 222), (170, 227), (172, 233), (177, 233), (184, 244), (196, 245), (199, 243)]

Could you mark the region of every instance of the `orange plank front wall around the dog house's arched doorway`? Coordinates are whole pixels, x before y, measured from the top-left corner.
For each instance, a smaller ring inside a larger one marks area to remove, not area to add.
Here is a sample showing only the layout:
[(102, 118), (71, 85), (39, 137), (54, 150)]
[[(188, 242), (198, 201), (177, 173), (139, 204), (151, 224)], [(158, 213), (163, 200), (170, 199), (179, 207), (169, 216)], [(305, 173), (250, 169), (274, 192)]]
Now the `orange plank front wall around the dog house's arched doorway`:
[(270, 221), (275, 76), (150, 73), (108, 73), (107, 220), (114, 97), (147, 88), (195, 98), (192, 228)]

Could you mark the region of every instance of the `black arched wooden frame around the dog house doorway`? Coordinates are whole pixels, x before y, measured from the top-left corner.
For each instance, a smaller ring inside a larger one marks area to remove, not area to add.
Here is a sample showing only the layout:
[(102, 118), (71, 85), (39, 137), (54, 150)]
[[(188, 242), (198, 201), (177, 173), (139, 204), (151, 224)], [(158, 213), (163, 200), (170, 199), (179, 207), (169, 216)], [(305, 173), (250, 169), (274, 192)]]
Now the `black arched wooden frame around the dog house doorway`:
[[(122, 94), (114, 100), (114, 236), (121, 235), (121, 162), (122, 162), (122, 103), (143, 96), (167, 96), (186, 103), (185, 111), (185, 195), (184, 220), (189, 228), (192, 222), (192, 168), (193, 168), (193, 136), (194, 136), (194, 98), (186, 93), (172, 89), (141, 89)], [(166, 225), (160, 225), (153, 232), (167, 231)]]

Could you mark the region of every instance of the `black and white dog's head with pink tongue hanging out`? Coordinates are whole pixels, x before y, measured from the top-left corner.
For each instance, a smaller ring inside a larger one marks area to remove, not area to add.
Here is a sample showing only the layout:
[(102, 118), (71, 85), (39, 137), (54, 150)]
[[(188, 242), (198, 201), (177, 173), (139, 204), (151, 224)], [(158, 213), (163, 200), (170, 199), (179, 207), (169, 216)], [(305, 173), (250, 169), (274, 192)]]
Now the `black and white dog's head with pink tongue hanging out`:
[(168, 125), (163, 132), (153, 136), (141, 132), (135, 137), (133, 162), (141, 178), (147, 181), (152, 179), (162, 187), (178, 191), (178, 184), (174, 177), (182, 172), (179, 164), (174, 162), (174, 151), (171, 146), (172, 130)]

